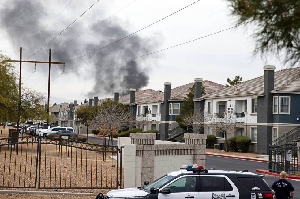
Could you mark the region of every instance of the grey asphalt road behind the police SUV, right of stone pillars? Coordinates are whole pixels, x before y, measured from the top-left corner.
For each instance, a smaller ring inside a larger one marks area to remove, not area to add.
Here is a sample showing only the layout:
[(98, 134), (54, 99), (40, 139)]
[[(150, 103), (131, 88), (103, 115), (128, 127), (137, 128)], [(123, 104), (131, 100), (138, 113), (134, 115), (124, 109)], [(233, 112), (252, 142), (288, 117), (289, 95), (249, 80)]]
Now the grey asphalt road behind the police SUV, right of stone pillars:
[[(234, 171), (242, 171), (244, 169), (248, 169), (249, 172), (255, 173), (256, 169), (268, 169), (267, 162), (256, 162), (249, 160), (240, 160), (233, 158), (223, 158), (216, 156), (206, 155), (206, 166), (207, 169), (215, 168), (216, 170), (234, 170)], [(257, 173), (262, 175), (261, 173)], [(278, 180), (279, 177), (265, 175), (264, 180), (272, 186), (273, 182)], [(287, 179), (295, 188), (294, 191), (294, 199), (300, 199), (300, 182), (296, 180)]]

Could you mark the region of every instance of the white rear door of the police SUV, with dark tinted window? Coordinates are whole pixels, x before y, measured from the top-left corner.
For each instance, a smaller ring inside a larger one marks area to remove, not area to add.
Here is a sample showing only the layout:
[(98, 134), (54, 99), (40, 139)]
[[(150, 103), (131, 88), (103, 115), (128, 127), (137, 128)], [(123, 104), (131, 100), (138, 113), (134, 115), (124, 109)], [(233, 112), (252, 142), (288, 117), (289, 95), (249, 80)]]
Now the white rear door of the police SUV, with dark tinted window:
[(223, 175), (200, 175), (199, 199), (239, 199), (238, 188)]

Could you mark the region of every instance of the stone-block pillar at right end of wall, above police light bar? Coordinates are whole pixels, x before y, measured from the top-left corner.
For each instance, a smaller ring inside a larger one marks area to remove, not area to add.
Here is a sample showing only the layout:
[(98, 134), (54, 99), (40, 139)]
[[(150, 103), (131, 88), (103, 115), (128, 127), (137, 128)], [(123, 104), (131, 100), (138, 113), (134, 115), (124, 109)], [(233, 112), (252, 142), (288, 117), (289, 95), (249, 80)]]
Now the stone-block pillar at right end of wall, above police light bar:
[(205, 145), (207, 134), (184, 134), (184, 143), (193, 144), (193, 164), (203, 165), (205, 168)]

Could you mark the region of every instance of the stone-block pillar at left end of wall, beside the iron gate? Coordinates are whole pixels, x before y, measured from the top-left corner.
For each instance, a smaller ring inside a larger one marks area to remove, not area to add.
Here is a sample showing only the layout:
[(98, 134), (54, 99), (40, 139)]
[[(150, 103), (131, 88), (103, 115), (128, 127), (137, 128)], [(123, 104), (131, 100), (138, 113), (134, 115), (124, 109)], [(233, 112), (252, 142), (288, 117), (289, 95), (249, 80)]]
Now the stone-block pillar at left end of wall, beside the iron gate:
[(141, 176), (140, 185), (148, 180), (154, 181), (154, 156), (155, 156), (155, 133), (130, 133), (131, 144), (137, 148), (136, 156), (141, 156), (141, 170), (136, 170), (136, 180)]

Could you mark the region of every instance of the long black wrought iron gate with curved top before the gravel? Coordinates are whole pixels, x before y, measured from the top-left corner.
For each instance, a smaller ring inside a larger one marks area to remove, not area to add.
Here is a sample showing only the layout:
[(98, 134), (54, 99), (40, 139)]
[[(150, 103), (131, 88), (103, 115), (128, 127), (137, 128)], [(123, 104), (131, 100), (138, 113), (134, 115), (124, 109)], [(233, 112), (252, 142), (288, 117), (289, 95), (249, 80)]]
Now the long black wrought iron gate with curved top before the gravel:
[(0, 139), (0, 187), (116, 189), (122, 184), (119, 165), (118, 146), (56, 137)]

